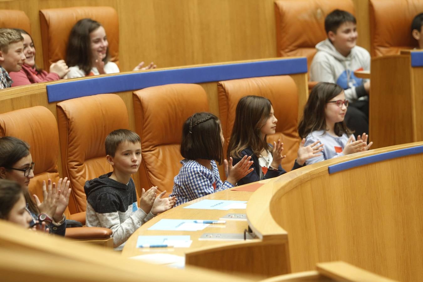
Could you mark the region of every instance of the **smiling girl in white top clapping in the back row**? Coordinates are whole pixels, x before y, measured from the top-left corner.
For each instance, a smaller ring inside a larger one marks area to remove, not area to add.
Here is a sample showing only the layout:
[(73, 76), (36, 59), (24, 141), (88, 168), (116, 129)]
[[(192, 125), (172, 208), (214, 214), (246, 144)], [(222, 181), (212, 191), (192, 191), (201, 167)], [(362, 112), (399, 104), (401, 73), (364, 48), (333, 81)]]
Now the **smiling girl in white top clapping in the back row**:
[[(79, 20), (72, 27), (66, 48), (66, 63), (70, 66), (67, 77), (118, 73), (118, 66), (109, 60), (109, 42), (104, 27), (93, 19)], [(156, 68), (153, 62), (144, 68), (143, 65), (141, 62), (133, 70)]]

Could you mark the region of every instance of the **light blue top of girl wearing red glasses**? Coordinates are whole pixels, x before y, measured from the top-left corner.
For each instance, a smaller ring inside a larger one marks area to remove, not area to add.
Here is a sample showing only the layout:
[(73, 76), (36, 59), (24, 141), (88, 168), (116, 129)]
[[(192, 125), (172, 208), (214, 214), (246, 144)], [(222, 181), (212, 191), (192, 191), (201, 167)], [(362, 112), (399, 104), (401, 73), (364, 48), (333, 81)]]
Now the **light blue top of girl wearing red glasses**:
[[(343, 156), (343, 148), (345, 148), (346, 142), (348, 141), (349, 136), (344, 133), (342, 136), (332, 136), (327, 133), (325, 130), (316, 130), (311, 132), (305, 137), (304, 146), (313, 144), (317, 140), (320, 140), (323, 146), (323, 151), (321, 156), (317, 156), (305, 161), (305, 164), (314, 164), (316, 162), (321, 162), (327, 159), (336, 158), (338, 156)], [(338, 153), (338, 152), (339, 153)]]

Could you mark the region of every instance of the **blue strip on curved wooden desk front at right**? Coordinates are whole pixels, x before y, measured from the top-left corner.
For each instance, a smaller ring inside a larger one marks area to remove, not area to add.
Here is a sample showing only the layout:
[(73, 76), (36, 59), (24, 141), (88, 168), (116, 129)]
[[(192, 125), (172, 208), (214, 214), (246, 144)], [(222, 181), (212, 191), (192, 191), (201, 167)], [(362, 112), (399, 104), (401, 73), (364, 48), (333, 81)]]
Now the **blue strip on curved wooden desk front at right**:
[(423, 153), (423, 146), (400, 149), (396, 151), (380, 153), (373, 156), (367, 156), (360, 159), (354, 159), (351, 161), (342, 162), (340, 164), (331, 165), (327, 167), (327, 169), (329, 170), (329, 173), (334, 173), (342, 170), (349, 170), (350, 168), (359, 167), (365, 164), (372, 164), (374, 162), (381, 162), (387, 159), (395, 159), (403, 156), (415, 155), (420, 153)]

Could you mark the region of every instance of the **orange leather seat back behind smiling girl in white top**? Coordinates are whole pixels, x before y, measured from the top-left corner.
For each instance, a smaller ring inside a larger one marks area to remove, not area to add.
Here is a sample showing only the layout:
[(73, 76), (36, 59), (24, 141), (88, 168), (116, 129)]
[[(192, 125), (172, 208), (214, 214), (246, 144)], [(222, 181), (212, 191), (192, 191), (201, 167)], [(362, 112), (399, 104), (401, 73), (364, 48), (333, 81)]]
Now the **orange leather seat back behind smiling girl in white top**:
[(110, 61), (119, 64), (119, 20), (112, 7), (69, 7), (40, 10), (41, 40), (44, 69), (58, 60), (66, 59), (66, 46), (72, 27), (80, 19), (99, 22), (107, 34)]

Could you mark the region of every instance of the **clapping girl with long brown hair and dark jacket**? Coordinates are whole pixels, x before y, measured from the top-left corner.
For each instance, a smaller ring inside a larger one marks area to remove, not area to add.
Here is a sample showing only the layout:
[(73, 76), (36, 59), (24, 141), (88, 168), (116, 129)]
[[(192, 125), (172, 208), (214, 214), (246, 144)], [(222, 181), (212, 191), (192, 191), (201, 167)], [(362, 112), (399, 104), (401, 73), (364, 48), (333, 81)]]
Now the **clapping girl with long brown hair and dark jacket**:
[[(275, 134), (277, 119), (272, 103), (260, 96), (245, 96), (236, 105), (235, 122), (228, 145), (228, 157), (233, 157), (233, 163), (239, 162), (241, 156), (251, 156), (254, 161), (251, 171), (238, 184), (246, 184), (262, 179), (277, 177), (286, 173), (280, 163), (286, 157), (282, 155), (283, 143), (266, 142), (269, 134)], [(292, 170), (302, 167), (306, 159), (319, 156), (323, 150), (320, 141), (305, 147), (302, 140), (298, 157)]]

